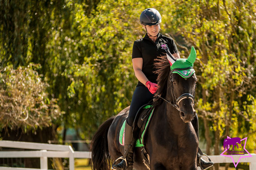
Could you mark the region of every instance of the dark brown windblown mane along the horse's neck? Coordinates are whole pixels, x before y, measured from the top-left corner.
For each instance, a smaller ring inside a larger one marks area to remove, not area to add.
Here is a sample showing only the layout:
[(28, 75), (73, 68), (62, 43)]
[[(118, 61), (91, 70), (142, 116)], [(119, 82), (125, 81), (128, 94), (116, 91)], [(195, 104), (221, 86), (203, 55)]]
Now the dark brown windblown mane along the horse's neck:
[(154, 73), (158, 74), (157, 82), (158, 82), (158, 90), (154, 94), (154, 97), (156, 98), (155, 101), (158, 101), (159, 98), (158, 95), (160, 95), (162, 98), (166, 97), (167, 93), (167, 85), (169, 80), (169, 73), (171, 71), (170, 63), (166, 56), (160, 56), (157, 59), (154, 60), (154, 67), (156, 68), (156, 71)]

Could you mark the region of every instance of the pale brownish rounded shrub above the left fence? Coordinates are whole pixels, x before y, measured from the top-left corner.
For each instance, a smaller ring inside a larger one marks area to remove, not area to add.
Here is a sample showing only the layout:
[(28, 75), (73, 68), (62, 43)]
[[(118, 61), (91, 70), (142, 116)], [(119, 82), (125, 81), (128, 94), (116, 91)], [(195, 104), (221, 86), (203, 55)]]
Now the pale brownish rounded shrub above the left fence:
[(45, 83), (36, 69), (40, 66), (13, 69), (11, 66), (0, 72), (0, 129), (27, 130), (49, 127), (62, 114), (57, 100), (47, 93)]

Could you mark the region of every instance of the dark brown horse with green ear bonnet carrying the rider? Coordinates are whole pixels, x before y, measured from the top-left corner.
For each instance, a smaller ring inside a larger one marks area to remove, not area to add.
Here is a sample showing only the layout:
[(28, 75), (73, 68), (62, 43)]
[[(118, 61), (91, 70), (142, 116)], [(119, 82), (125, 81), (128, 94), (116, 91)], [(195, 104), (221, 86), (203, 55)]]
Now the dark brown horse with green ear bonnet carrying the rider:
[[(185, 63), (185, 59), (183, 62)], [(150, 158), (149, 168), (197, 170), (198, 138), (190, 122), (196, 114), (193, 106), (197, 79), (194, 71), (190, 72), (188, 78), (177, 73), (194, 69), (184, 68), (181, 64), (181, 69), (171, 70), (166, 57), (157, 59), (155, 65), (159, 75), (159, 89), (155, 94), (154, 115), (144, 138), (145, 149)], [(113, 160), (124, 155), (124, 147), (119, 144), (119, 131), (128, 112), (129, 107), (99, 127), (92, 140), (93, 170), (110, 170)], [(139, 148), (135, 148), (133, 159), (134, 169), (148, 169), (142, 161)]]

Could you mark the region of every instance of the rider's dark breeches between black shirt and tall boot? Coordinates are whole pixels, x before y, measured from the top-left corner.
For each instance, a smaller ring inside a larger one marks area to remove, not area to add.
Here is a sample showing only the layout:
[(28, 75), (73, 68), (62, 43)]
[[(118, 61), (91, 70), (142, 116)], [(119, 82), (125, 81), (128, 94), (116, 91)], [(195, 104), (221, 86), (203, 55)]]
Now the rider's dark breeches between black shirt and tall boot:
[(132, 95), (132, 102), (127, 118), (128, 125), (132, 126), (137, 111), (141, 106), (147, 104), (154, 98), (154, 94), (150, 93), (146, 86), (137, 86)]

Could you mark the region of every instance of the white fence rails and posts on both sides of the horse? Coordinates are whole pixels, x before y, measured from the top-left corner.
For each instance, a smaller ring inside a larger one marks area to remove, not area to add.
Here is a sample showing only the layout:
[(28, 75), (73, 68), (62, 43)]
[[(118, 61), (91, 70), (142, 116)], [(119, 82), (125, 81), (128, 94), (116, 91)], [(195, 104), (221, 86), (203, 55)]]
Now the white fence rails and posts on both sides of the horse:
[[(91, 158), (90, 152), (78, 152), (74, 151), (71, 146), (61, 144), (40, 144), (32, 142), (16, 142), (8, 140), (0, 140), (0, 147), (6, 148), (19, 148), (19, 149), (34, 149), (35, 151), (0, 151), (0, 158), (12, 158), (12, 157), (40, 157), (40, 169), (48, 170), (48, 157), (69, 158), (70, 170), (75, 169), (75, 158)], [(243, 157), (240, 162), (249, 162), (250, 170), (256, 170), (256, 154), (251, 154), (252, 157)], [(248, 155), (244, 155), (248, 156)], [(231, 157), (225, 157), (220, 155), (209, 156), (215, 163), (233, 163)], [(234, 161), (237, 162), (240, 155), (232, 156)], [(32, 168), (12, 168), (12, 167), (0, 167), (0, 170), (39, 170)], [(198, 168), (200, 170), (200, 168)]]

